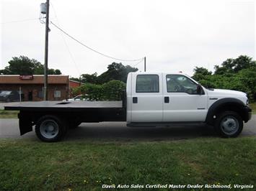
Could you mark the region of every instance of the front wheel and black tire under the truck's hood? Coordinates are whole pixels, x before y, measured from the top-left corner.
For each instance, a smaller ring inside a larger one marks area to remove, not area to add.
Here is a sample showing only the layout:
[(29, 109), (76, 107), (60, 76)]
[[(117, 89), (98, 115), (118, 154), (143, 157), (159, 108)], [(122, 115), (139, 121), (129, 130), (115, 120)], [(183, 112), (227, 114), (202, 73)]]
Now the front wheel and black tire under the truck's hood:
[(237, 137), (242, 132), (243, 121), (241, 116), (234, 111), (224, 111), (216, 118), (214, 129), (219, 136)]

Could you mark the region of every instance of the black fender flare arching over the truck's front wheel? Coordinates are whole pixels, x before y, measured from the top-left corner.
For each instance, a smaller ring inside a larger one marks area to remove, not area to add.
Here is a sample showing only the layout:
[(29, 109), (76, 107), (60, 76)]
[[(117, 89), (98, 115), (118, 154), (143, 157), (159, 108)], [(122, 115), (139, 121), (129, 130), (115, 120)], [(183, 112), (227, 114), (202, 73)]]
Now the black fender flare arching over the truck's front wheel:
[(213, 103), (211, 107), (208, 109), (206, 123), (213, 124), (213, 116), (216, 114), (216, 112), (221, 110), (221, 108), (225, 107), (233, 108), (233, 111), (237, 111), (241, 115), (243, 120), (246, 121), (246, 119), (244, 118), (244, 108), (246, 108), (247, 106), (245, 106), (242, 101), (240, 101), (237, 98), (221, 98), (219, 101)]

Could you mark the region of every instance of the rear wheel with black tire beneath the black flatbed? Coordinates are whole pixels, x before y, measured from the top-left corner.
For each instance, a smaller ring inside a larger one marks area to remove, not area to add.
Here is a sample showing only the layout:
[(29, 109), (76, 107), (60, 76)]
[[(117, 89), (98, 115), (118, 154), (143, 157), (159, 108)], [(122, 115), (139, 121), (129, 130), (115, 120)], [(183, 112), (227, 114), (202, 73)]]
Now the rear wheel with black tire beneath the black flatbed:
[(66, 121), (57, 116), (43, 116), (35, 125), (35, 134), (45, 142), (60, 141), (65, 136), (66, 130)]

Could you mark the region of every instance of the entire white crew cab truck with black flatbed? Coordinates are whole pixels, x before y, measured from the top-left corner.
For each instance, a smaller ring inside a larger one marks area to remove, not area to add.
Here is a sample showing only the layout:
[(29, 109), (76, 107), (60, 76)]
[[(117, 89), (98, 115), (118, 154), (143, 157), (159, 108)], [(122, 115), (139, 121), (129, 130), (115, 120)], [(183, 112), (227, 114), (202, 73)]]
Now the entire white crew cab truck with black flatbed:
[(208, 124), (236, 137), (252, 116), (246, 93), (207, 89), (182, 73), (129, 73), (123, 101), (42, 101), (6, 106), (19, 110), (20, 133), (58, 141), (82, 122), (126, 121), (127, 126)]

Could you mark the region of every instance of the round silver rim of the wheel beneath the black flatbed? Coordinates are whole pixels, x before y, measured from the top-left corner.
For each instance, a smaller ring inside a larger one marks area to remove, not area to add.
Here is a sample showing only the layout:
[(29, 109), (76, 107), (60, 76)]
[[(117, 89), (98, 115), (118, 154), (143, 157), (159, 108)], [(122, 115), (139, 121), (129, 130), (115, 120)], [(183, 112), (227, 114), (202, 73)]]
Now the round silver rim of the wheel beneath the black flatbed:
[(58, 135), (58, 124), (52, 119), (43, 121), (40, 124), (40, 134), (46, 139), (53, 139)]

